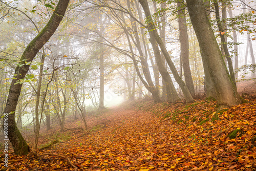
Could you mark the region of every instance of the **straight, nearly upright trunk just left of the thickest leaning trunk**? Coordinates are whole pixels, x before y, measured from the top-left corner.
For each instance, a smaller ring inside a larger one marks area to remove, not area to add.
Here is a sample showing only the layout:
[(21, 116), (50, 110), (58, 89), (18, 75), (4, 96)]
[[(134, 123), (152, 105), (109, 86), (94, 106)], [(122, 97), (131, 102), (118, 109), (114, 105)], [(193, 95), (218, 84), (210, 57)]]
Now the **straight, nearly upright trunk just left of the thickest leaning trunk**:
[(186, 23), (186, 16), (182, 4), (184, 0), (180, 0), (177, 3), (178, 6), (178, 22), (179, 22), (179, 31), (180, 31), (180, 58), (182, 59), (182, 65), (184, 69), (184, 77), (187, 89), (189, 90), (190, 94), (193, 98), (195, 98), (195, 87), (194, 82), (191, 75), (191, 70), (189, 66), (189, 42), (188, 42), (188, 34), (187, 34), (187, 23)]

